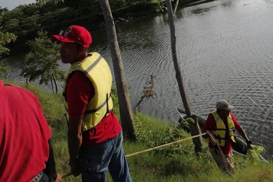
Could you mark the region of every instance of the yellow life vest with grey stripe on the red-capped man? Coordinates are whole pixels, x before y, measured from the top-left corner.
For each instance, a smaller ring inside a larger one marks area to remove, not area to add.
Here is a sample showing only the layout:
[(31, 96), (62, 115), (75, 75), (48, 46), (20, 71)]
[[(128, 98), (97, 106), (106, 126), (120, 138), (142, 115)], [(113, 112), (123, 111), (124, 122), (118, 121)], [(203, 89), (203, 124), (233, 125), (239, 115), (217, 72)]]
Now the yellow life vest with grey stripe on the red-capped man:
[[(113, 109), (111, 97), (112, 74), (107, 62), (97, 52), (90, 52), (88, 56), (80, 62), (74, 62), (66, 76), (63, 85), (63, 96), (66, 100), (66, 84), (69, 81), (73, 71), (82, 71), (92, 82), (95, 95), (86, 106), (83, 114), (82, 131), (89, 130), (99, 124), (99, 122), (108, 115)], [(67, 100), (65, 102), (66, 109)]]

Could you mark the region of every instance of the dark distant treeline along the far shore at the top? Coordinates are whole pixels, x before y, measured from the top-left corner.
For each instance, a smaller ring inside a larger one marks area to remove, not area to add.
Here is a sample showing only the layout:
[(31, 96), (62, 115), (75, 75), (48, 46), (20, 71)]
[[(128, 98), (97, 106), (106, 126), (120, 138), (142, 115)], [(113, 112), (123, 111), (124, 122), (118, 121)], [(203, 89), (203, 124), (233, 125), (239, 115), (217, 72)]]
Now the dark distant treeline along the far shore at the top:
[[(118, 20), (130, 19), (133, 16), (147, 15), (155, 12), (156, 0), (109, 0), (113, 17)], [(17, 40), (9, 45), (11, 51), (26, 49), (25, 42), (34, 39), (38, 30), (52, 33), (77, 24), (87, 29), (103, 26), (103, 15), (98, 0), (64, 0), (64, 2), (47, 2), (40, 7), (38, 4), (20, 5), (13, 10), (0, 7), (0, 23), (2, 32), (14, 33)], [(119, 22), (120, 22), (119, 21)]]

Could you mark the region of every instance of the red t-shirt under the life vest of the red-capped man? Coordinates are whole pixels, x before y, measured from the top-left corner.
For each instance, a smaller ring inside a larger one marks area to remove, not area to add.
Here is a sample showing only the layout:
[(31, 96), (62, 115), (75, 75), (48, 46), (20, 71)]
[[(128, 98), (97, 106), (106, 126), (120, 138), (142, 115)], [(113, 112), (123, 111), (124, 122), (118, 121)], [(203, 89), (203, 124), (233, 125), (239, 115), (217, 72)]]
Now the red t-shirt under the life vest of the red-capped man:
[[(81, 71), (73, 72), (66, 86), (68, 114), (70, 116), (83, 114), (86, 110), (86, 105), (94, 97), (94, 94), (95, 89), (90, 79)], [(120, 131), (120, 123), (113, 111), (111, 111), (95, 127), (82, 132), (82, 144), (95, 145), (104, 142), (109, 138), (116, 137)]]

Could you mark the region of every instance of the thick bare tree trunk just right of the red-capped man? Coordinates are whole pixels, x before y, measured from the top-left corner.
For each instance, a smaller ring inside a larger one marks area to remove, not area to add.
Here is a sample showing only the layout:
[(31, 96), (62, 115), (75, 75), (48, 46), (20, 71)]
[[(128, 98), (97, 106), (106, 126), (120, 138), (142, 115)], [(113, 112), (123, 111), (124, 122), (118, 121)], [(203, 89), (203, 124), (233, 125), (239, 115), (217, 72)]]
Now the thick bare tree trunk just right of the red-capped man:
[(103, 16), (106, 23), (108, 41), (110, 45), (111, 56), (113, 60), (114, 74), (116, 80), (116, 89), (118, 93), (120, 106), (120, 119), (124, 133), (130, 140), (135, 140), (133, 113), (126, 85), (123, 64), (120, 55), (120, 48), (116, 38), (116, 28), (108, 0), (99, 0)]

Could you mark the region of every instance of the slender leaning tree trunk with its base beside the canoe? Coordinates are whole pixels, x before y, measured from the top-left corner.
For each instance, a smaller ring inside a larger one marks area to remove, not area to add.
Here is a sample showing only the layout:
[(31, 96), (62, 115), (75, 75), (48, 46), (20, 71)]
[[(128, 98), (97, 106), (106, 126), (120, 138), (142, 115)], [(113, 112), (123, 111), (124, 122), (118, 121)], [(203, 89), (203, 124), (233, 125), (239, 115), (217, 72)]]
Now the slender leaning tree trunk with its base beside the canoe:
[[(187, 93), (186, 93), (184, 83), (183, 83), (183, 72), (180, 70), (178, 60), (177, 60), (174, 15), (173, 15), (173, 10), (172, 10), (170, 0), (166, 0), (166, 5), (167, 5), (168, 18), (169, 18), (169, 24), (170, 24), (171, 47), (172, 47), (172, 55), (173, 55), (173, 61), (174, 61), (175, 75), (176, 75), (178, 88), (179, 88), (179, 91), (180, 91), (180, 95), (181, 95), (181, 98), (182, 98), (182, 102), (183, 102), (186, 114), (187, 114), (188, 117), (191, 117), (192, 116), (192, 111), (191, 111), (190, 103), (189, 103)], [(191, 133), (192, 136), (201, 134), (200, 127), (199, 127), (197, 119), (195, 120), (194, 124), (190, 125), (190, 133)], [(194, 143), (196, 149), (200, 149), (203, 146), (202, 137), (200, 136), (200, 137), (194, 138), (193, 143)]]

